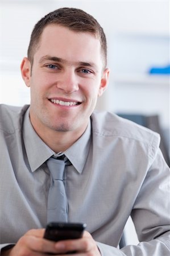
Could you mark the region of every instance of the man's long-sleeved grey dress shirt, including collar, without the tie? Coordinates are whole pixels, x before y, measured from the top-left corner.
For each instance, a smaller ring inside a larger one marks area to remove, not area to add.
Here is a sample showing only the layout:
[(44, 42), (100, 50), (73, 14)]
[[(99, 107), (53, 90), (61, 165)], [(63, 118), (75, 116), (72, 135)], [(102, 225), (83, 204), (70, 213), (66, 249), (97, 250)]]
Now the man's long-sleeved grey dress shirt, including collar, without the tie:
[[(159, 135), (111, 113), (94, 112), (64, 152), (68, 218), (85, 222), (103, 256), (169, 256), (169, 168)], [(54, 152), (40, 139), (29, 106), (0, 105), (0, 243), (45, 228)], [(118, 249), (128, 216), (139, 245)]]

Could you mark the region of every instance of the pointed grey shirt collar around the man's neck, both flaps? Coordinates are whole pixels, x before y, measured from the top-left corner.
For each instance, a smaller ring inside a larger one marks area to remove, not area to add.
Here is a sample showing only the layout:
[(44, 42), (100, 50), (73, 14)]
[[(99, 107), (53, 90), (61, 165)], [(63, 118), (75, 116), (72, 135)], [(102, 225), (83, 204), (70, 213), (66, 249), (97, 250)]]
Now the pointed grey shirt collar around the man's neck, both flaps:
[[(30, 108), (28, 108), (24, 116), (23, 141), (31, 171), (34, 172), (48, 158), (55, 154), (55, 152), (51, 150), (51, 148), (49, 148), (38, 136), (31, 125), (29, 113)], [(71, 147), (63, 152), (80, 174), (84, 168), (86, 158), (88, 156), (90, 134), (91, 123), (89, 119), (88, 127), (86, 128), (84, 134), (82, 134), (82, 136)]]

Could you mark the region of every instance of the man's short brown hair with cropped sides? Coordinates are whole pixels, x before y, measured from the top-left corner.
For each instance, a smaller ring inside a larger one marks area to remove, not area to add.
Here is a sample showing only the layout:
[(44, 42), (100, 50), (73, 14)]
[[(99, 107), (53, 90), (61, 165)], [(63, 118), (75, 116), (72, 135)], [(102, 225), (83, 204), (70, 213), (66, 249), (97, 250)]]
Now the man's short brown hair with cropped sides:
[(76, 32), (90, 32), (93, 34), (96, 38), (99, 39), (101, 43), (104, 67), (106, 67), (107, 43), (106, 36), (102, 27), (99, 25), (97, 20), (93, 18), (92, 15), (85, 13), (85, 11), (80, 9), (67, 7), (52, 11), (35, 24), (27, 52), (28, 59), (30, 60), (31, 64), (34, 60), (34, 53), (36, 48), (39, 46), (42, 32), (44, 28), (49, 24), (60, 24), (61, 26), (67, 27), (70, 30)]

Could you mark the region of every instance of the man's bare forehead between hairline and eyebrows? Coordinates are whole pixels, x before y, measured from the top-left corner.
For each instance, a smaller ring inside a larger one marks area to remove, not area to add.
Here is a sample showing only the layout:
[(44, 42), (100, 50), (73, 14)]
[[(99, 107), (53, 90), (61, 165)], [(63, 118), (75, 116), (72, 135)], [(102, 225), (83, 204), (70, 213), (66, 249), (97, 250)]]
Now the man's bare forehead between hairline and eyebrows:
[(100, 62), (101, 44), (90, 32), (75, 32), (56, 24), (44, 28), (35, 57), (50, 55), (68, 61)]

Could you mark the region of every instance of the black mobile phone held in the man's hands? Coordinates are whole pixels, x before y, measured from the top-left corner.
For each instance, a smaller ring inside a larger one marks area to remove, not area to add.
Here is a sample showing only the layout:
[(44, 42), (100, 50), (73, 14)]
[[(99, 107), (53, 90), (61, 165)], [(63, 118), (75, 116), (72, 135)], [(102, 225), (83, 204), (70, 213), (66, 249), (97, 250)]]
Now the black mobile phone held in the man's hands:
[(86, 228), (86, 224), (50, 222), (45, 229), (44, 238), (52, 241), (78, 239)]

